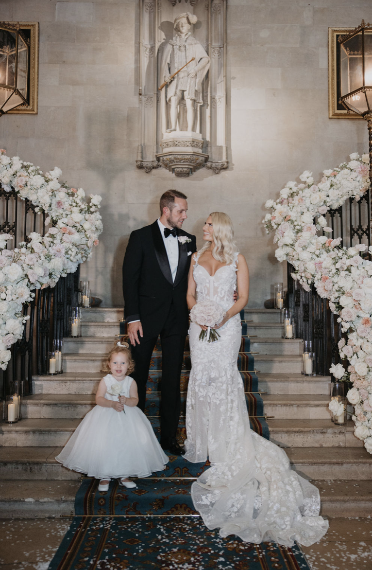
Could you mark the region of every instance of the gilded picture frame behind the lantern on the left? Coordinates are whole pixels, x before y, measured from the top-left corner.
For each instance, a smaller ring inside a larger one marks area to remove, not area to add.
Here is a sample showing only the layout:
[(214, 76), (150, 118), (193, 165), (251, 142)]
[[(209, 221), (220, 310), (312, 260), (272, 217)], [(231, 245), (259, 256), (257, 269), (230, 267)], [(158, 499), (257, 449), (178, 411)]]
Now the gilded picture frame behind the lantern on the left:
[(8, 115), (37, 115), (39, 90), (39, 22), (8, 22), (18, 23), (21, 30), (30, 40), (30, 103), (9, 111)]

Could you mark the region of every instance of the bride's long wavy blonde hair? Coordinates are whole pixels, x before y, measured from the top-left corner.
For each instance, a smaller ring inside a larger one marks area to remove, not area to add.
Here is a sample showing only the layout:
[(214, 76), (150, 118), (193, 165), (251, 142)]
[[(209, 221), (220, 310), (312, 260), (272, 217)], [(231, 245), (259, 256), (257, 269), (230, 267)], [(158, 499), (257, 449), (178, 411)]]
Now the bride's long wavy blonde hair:
[[(224, 212), (212, 212), (212, 214), (209, 215), (212, 218), (213, 225), (214, 247), (212, 255), (217, 261), (229, 265), (233, 263), (234, 254), (238, 251), (234, 242), (233, 222), (228, 214)], [(210, 246), (210, 242), (207, 242), (205, 246), (201, 248), (200, 253), (202, 254), (204, 251), (209, 250)]]

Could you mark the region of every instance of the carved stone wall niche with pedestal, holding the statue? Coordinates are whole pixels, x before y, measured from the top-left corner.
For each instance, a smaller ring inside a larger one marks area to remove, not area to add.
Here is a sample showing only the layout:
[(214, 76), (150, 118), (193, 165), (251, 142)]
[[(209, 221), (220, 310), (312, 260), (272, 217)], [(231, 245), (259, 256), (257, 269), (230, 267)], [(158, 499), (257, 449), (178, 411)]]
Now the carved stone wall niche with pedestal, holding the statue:
[[(228, 168), (226, 4), (227, 0), (139, 0), (137, 168), (148, 173), (162, 167), (177, 177), (191, 176), (203, 167), (216, 174)], [(173, 26), (185, 13), (191, 27), (188, 35), (181, 35)], [(159, 90), (164, 79), (192, 56), (194, 62)], [(195, 64), (192, 84), (185, 71), (193, 71)]]

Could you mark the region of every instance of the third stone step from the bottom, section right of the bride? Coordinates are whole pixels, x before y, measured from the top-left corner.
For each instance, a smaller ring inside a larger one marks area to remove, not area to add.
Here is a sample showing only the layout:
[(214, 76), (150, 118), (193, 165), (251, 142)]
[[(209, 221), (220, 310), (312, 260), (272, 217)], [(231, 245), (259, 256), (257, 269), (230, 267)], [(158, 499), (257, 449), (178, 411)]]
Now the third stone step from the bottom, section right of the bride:
[(363, 447), (354, 435), (354, 422), (336, 426), (329, 420), (268, 420), (270, 439), (281, 447)]

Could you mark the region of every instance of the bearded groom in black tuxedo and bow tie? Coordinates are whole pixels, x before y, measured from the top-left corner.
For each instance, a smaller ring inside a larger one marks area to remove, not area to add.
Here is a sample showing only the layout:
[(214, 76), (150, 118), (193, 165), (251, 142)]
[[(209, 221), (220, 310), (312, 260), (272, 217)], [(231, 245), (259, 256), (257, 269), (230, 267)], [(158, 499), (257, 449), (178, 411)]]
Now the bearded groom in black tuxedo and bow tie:
[(129, 340), (135, 361), (131, 374), (144, 410), (152, 351), (160, 335), (163, 370), (160, 445), (183, 454), (176, 441), (180, 417), (180, 376), (188, 329), (187, 276), (196, 238), (182, 230), (187, 218), (185, 194), (167, 190), (160, 218), (130, 234), (123, 263), (123, 295)]

